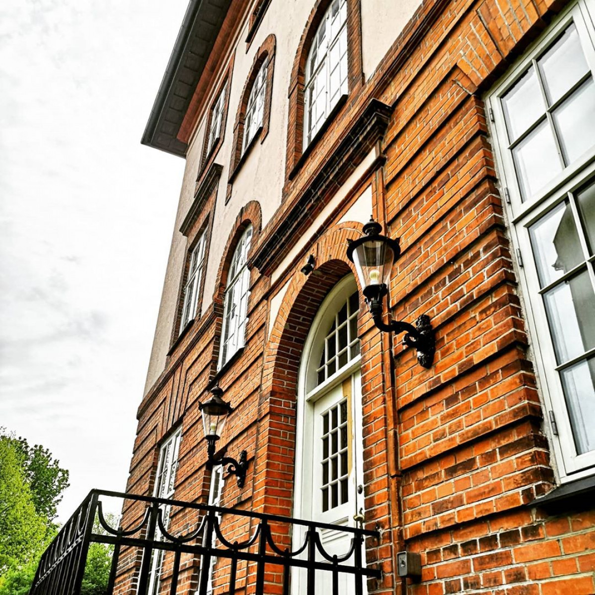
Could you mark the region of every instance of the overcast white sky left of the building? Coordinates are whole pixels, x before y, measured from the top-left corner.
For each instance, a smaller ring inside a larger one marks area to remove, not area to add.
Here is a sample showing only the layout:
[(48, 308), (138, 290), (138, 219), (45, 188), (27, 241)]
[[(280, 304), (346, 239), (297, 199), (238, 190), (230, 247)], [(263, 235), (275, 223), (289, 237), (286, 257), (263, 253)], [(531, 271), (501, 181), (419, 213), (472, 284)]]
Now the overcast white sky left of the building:
[(0, 425), (124, 490), (184, 161), (140, 137), (187, 0), (0, 2)]

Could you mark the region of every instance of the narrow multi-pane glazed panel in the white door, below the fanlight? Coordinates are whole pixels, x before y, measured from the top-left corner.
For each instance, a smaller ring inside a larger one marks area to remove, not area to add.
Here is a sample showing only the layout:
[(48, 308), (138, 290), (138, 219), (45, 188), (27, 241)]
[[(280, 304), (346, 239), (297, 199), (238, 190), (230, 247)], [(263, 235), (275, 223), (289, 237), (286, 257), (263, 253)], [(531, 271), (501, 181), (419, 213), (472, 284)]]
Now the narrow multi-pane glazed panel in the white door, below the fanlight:
[(322, 512), (349, 500), (349, 441), (347, 440), (347, 399), (322, 414)]

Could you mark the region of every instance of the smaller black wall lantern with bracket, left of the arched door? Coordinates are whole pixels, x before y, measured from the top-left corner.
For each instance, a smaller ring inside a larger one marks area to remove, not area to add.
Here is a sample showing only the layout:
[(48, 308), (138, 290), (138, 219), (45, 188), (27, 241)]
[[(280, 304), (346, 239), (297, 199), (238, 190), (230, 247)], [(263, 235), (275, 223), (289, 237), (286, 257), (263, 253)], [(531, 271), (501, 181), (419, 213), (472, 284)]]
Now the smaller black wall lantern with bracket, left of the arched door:
[(223, 400), (223, 390), (220, 387), (212, 387), (211, 394), (211, 399), (206, 403), (198, 404), (198, 408), (202, 411), (202, 426), (208, 444), (206, 450), (208, 464), (211, 467), (215, 465), (229, 465), (227, 472), (230, 475), (236, 475), (237, 486), (243, 487), (246, 480), (246, 468), (248, 467), (248, 461), (246, 461), (248, 453), (242, 450), (239, 461), (228, 456), (215, 456), (215, 444), (220, 439), (227, 416), (233, 411), (233, 408)]

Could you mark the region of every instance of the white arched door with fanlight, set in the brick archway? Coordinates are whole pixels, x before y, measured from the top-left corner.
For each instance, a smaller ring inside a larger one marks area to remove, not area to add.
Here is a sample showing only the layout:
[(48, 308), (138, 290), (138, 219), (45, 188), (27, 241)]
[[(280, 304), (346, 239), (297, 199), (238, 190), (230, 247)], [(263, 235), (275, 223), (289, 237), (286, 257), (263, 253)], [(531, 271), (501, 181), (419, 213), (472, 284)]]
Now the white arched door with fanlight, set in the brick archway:
[[(300, 362), (297, 397), (295, 516), (349, 527), (364, 507), (358, 309), (357, 286), (349, 275), (314, 319)], [(330, 555), (350, 548), (349, 534), (322, 530), (320, 536)], [(294, 547), (304, 537), (297, 529)], [(305, 571), (294, 573), (294, 595), (306, 592), (305, 577)], [(332, 592), (330, 572), (317, 572), (316, 592)], [(339, 592), (353, 593), (352, 577), (342, 575)]]

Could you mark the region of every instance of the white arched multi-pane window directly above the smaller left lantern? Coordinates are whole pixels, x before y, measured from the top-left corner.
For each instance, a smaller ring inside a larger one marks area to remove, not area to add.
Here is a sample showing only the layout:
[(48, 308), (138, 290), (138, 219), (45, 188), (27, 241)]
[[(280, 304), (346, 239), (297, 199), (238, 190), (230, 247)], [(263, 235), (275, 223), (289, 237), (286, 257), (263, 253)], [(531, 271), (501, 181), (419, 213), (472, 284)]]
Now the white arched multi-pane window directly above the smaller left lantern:
[(246, 262), (251, 240), (252, 226), (248, 226), (237, 243), (227, 273), (219, 368), (223, 367), (231, 356), (244, 345), (246, 312), (250, 294), (250, 271)]

